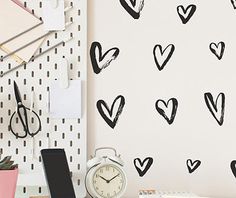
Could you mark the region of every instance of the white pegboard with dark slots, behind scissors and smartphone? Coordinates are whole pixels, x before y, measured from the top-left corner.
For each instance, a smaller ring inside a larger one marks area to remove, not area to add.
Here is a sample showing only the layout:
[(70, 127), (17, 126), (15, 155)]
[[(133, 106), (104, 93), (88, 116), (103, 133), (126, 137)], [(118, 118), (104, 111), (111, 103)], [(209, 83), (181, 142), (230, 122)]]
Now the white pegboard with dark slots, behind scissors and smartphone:
[[(42, 2), (21, 1), (25, 7), (38, 16), (42, 16)], [(43, 148), (64, 148), (78, 197), (85, 196), (84, 176), (87, 156), (87, 1), (66, 0), (65, 5), (73, 8), (66, 13), (66, 21), (73, 22), (65, 31), (53, 33), (43, 43), (39, 51), (61, 42), (65, 37), (73, 39), (34, 62), (0, 78), (0, 150), (5, 155), (12, 155), (19, 164), (17, 198), (29, 195), (45, 195), (47, 190), (42, 175), (40, 150)], [(3, 52), (1, 52), (3, 53)], [(3, 54), (0, 54), (3, 55)], [(82, 80), (82, 118), (52, 119), (47, 113), (47, 91), (50, 82), (58, 79), (60, 60), (65, 57), (69, 63), (69, 78)], [(16, 66), (14, 60), (7, 59), (0, 63), (0, 71), (5, 72)], [(35, 156), (32, 155), (33, 139), (16, 139), (9, 131), (9, 119), (15, 110), (13, 81), (16, 81), (24, 104), (30, 105), (31, 90), (35, 92), (34, 110), (40, 115), (41, 132), (35, 136)], [(31, 192), (31, 193), (30, 193)]]

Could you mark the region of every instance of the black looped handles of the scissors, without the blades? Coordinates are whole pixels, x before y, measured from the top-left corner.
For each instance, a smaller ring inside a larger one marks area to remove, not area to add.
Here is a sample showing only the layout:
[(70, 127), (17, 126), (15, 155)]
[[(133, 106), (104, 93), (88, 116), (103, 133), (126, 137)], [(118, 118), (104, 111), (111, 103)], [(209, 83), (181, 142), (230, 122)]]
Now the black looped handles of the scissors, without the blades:
[[(20, 109), (23, 109), (23, 114), (24, 114), (24, 118), (23, 118), (23, 115), (22, 113), (20, 112)], [(34, 133), (31, 133), (30, 130), (29, 130), (29, 125), (28, 125), (28, 115), (27, 115), (27, 110), (30, 111), (29, 108), (25, 107), (24, 105), (22, 104), (18, 104), (17, 106), (17, 111), (15, 111), (11, 118), (10, 118), (10, 125), (9, 125), (9, 128), (10, 128), (10, 131), (16, 136), (16, 138), (26, 138), (27, 137), (27, 134), (29, 134), (31, 137), (34, 137), (35, 135), (37, 135), (39, 133), (39, 131), (41, 130), (41, 120), (38, 116), (38, 114), (35, 112), (35, 111), (32, 111), (32, 113), (37, 117), (38, 119), (38, 122), (39, 122), (39, 127), (38, 127), (38, 130)], [(24, 129), (24, 135), (19, 135), (18, 133), (14, 132), (13, 128), (12, 128), (12, 121), (13, 121), (13, 117), (15, 115), (18, 115), (19, 118), (20, 118), (20, 122), (23, 126), (23, 129)]]

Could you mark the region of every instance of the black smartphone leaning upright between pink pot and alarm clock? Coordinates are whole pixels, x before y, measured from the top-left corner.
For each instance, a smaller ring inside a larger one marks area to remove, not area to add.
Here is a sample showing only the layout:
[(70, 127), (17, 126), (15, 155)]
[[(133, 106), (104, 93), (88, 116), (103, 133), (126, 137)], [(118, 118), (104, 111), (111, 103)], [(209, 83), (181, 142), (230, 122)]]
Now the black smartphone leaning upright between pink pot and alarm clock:
[(64, 149), (42, 149), (51, 198), (76, 198)]

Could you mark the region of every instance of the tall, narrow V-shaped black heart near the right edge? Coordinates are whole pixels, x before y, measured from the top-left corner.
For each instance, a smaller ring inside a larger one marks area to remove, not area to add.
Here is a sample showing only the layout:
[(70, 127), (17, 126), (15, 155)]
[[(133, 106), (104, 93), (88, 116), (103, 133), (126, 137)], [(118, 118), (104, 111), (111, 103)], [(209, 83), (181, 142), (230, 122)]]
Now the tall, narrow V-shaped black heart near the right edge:
[[(208, 92), (204, 94), (204, 99), (209, 111), (221, 126), (224, 123), (225, 94), (220, 93), (214, 101), (212, 94)], [(220, 100), (219, 103), (218, 100)]]

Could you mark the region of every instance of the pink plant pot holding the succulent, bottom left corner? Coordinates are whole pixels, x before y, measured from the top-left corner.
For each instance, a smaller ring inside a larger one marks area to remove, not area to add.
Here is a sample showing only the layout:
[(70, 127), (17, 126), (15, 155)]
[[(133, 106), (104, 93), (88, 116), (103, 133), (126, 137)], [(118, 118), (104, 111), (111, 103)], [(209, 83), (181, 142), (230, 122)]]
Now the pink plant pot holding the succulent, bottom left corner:
[(14, 198), (18, 169), (0, 170), (0, 198)]

